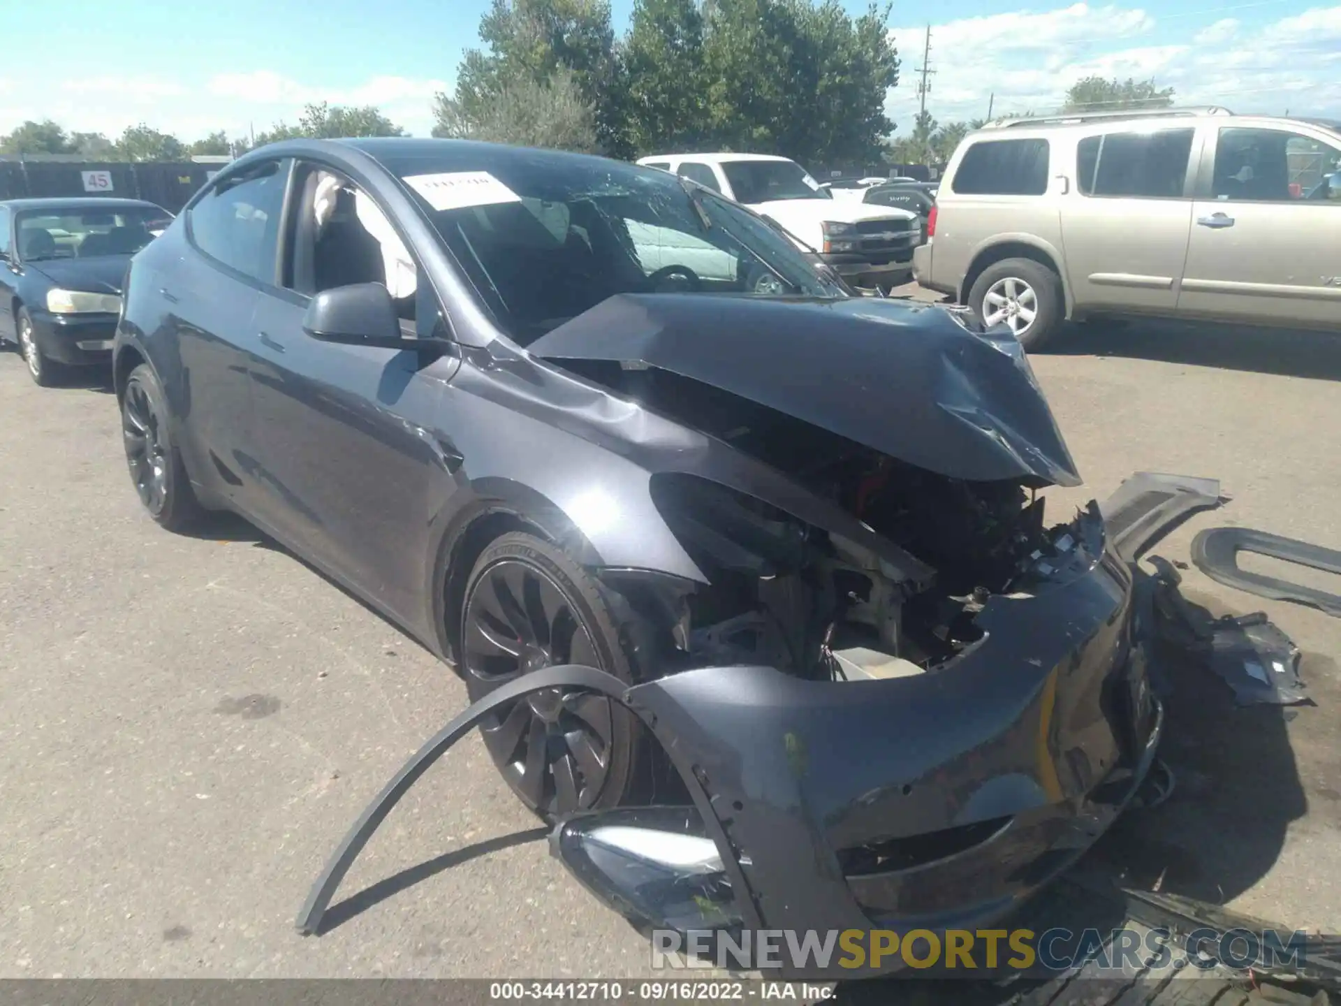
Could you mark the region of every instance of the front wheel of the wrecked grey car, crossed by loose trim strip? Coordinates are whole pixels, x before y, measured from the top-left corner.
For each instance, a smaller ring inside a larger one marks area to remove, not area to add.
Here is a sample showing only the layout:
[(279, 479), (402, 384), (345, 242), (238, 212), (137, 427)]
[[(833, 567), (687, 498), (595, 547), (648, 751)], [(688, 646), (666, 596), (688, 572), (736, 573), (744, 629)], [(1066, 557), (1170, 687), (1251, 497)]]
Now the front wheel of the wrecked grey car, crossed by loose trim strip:
[[(554, 545), (514, 531), (471, 573), (459, 663), (471, 702), (558, 664), (595, 667), (632, 685), (628, 637), (595, 578)], [(602, 695), (535, 692), (495, 712), (480, 734), (512, 791), (547, 821), (633, 802), (648, 787), (652, 738)]]

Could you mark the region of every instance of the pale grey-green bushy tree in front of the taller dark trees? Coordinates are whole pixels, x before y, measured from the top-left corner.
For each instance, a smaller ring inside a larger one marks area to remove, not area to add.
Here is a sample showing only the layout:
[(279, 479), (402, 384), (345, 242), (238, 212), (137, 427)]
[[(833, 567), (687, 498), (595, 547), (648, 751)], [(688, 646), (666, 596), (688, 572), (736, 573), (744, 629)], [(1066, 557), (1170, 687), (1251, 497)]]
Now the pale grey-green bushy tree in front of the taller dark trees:
[(433, 135), (582, 153), (599, 148), (594, 110), (565, 67), (548, 80), (519, 76), (504, 83), (469, 117), (459, 102), (439, 95)]

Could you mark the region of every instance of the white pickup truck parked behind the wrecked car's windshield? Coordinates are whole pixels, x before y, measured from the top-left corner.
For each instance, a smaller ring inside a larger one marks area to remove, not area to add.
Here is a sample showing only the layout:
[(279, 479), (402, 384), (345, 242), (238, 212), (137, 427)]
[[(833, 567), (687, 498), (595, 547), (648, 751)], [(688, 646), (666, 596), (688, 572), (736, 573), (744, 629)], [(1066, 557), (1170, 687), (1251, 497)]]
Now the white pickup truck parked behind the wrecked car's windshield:
[(699, 182), (776, 221), (843, 279), (888, 288), (912, 275), (921, 243), (905, 209), (835, 200), (795, 161), (770, 154), (661, 154), (638, 164)]

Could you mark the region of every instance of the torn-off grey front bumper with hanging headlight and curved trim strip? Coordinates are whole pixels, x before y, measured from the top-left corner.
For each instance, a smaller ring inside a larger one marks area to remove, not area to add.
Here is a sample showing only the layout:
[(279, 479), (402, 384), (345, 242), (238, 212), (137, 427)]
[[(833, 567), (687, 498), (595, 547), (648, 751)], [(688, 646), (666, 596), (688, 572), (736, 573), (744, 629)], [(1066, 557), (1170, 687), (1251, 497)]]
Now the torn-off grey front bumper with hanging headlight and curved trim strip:
[[(320, 931), (349, 865), (418, 775), (492, 710), (550, 687), (633, 710), (692, 801), (557, 825), (555, 854), (625, 916), (734, 939), (999, 920), (1112, 824), (1160, 738), (1130, 567), (1105, 545), (1097, 507), (1073, 531), (1046, 577), (988, 600), (983, 638), (929, 672), (814, 681), (712, 667), (629, 688), (554, 667), (496, 689), (388, 783), (318, 879), (299, 928)], [(878, 970), (897, 967), (890, 958)], [(775, 974), (829, 972), (787, 962)]]

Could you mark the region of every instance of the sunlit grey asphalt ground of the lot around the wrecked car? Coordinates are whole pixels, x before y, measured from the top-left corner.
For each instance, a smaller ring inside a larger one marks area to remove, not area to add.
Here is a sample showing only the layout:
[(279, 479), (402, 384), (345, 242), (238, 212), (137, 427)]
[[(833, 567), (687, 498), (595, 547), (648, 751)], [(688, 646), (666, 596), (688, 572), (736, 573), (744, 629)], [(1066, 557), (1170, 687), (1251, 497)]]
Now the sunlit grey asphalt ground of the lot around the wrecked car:
[[(1133, 471), (1180, 472), (1234, 500), (1161, 555), (1187, 559), (1220, 523), (1341, 547), (1341, 338), (1096, 325), (1034, 368), (1086, 479), (1050, 494), (1054, 518)], [(1341, 931), (1341, 620), (1183, 575), (1208, 608), (1266, 610), (1305, 651), (1317, 706), (1238, 711), (1215, 679), (1180, 680), (1200, 712), (1169, 736), (1179, 790), (1100, 856), (1139, 883)], [(326, 856), (464, 688), (245, 524), (160, 531), (109, 389), (38, 389), (13, 353), (0, 696), (3, 976), (649, 971), (646, 942), (548, 858), (475, 739), (378, 832), (334, 928), (300, 938)]]

